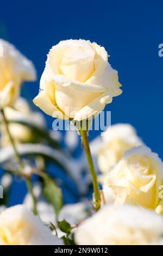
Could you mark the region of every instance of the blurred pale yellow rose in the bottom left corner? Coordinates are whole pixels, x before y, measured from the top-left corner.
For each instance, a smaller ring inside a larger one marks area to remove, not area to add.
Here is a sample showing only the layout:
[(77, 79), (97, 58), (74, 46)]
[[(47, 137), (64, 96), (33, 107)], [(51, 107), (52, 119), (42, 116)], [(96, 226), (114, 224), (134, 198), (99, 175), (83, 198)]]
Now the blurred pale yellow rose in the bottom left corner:
[(0, 245), (60, 244), (61, 240), (25, 206), (12, 206), (0, 214)]

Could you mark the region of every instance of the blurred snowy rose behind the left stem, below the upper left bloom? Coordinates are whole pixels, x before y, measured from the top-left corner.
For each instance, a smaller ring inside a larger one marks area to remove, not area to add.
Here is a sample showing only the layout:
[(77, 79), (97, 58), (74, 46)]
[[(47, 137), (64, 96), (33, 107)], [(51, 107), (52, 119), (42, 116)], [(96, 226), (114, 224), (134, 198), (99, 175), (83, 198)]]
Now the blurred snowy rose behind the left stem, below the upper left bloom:
[[(11, 107), (5, 107), (4, 109), (5, 117), (8, 121), (26, 121), (29, 124), (33, 124), (39, 127), (45, 127), (45, 119), (43, 115), (39, 112), (32, 112), (30, 109), (28, 102), (26, 99), (20, 97), (16, 100)], [(3, 121), (0, 115), (0, 121)], [(15, 140), (16, 143), (27, 143), (32, 141), (33, 139), (33, 132), (29, 129), (29, 127), (18, 124), (18, 123), (9, 123), (9, 130), (11, 133), (12, 138)], [(8, 133), (5, 129), (5, 126), (0, 126), (1, 132), (1, 147), (6, 147), (10, 144), (10, 139)]]

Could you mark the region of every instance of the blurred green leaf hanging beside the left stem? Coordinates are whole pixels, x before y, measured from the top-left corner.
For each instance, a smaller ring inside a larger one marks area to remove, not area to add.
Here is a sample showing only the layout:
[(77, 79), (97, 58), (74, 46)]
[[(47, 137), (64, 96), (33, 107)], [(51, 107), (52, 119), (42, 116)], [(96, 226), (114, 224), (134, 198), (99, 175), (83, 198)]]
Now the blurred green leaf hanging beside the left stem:
[(63, 205), (63, 198), (61, 189), (55, 184), (54, 180), (48, 175), (43, 175), (43, 193), (48, 202), (51, 203), (55, 209), (55, 213), (58, 215)]

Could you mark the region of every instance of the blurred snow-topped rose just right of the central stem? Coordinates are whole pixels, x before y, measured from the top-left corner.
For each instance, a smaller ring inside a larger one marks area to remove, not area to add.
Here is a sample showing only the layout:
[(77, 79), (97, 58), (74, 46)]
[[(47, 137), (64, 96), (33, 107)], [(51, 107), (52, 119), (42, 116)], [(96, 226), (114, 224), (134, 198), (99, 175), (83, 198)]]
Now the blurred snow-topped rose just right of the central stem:
[(111, 125), (102, 133), (101, 138), (102, 145), (97, 153), (97, 160), (102, 173), (108, 172), (126, 150), (142, 144), (134, 127), (129, 124)]

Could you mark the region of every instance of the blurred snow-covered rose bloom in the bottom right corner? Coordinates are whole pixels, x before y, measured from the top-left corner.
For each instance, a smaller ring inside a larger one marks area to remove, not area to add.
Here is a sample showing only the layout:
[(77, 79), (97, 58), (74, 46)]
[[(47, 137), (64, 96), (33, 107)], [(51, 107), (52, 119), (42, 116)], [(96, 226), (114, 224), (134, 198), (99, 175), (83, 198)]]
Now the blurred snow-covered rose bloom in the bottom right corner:
[(81, 224), (78, 245), (162, 245), (163, 218), (131, 205), (105, 205)]

